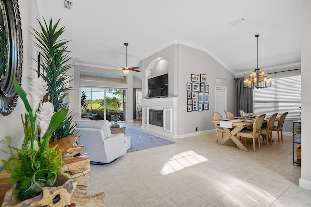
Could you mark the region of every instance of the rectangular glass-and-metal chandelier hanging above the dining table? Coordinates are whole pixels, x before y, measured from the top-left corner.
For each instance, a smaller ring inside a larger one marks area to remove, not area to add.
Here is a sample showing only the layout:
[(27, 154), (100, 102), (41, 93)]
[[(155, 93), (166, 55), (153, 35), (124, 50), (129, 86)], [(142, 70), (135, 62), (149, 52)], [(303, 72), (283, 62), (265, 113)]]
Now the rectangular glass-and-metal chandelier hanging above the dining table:
[(271, 87), (271, 81), (272, 81), (272, 75), (269, 75), (267, 77), (266, 74), (264, 74), (263, 69), (258, 68), (258, 37), (259, 35), (255, 35), (257, 39), (257, 45), (256, 45), (256, 69), (254, 69), (250, 76), (246, 76), (244, 78), (244, 87), (245, 88), (266, 88)]

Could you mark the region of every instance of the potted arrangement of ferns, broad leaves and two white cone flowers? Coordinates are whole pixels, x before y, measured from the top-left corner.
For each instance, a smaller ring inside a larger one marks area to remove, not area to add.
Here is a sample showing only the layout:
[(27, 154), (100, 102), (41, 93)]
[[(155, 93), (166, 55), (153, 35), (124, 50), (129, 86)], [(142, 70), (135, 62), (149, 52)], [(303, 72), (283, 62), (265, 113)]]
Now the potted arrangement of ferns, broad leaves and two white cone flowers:
[[(11, 146), (11, 137), (7, 136), (2, 143), (8, 143), (11, 161), (2, 160), (4, 169), (11, 174), (9, 182), (16, 184), (14, 196), (23, 201), (40, 194), (44, 186), (52, 187), (62, 166), (61, 153), (55, 147), (49, 147), (52, 133), (64, 121), (68, 109), (54, 112), (50, 102), (40, 103), (46, 94), (47, 83), (40, 77), (30, 82), (29, 94), (14, 79), (14, 86), (24, 102), (26, 113), (21, 116), (24, 127), (24, 140), (21, 149)], [(37, 126), (37, 123), (38, 126)], [(18, 155), (14, 156), (13, 152)]]

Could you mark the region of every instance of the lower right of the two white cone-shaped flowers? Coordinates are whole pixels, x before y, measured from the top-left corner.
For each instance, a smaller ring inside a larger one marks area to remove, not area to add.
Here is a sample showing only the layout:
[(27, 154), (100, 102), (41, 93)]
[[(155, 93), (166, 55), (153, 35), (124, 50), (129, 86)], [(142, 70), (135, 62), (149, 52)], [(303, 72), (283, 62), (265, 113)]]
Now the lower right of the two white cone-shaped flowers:
[(44, 136), (47, 131), (51, 117), (54, 114), (54, 105), (51, 102), (43, 102), (39, 106), (39, 111), (37, 112), (37, 120), (39, 121), (39, 126), (41, 129), (40, 136)]

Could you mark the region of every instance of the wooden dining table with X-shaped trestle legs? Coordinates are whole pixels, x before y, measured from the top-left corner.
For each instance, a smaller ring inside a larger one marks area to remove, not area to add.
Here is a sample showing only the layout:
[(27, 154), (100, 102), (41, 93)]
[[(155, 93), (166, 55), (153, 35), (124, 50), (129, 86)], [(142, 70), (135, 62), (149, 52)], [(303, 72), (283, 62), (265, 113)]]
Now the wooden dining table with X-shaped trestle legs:
[[(255, 120), (255, 119), (254, 119)], [(229, 139), (232, 139), (232, 141), (237, 145), (237, 147), (240, 150), (246, 151), (248, 152), (248, 149), (245, 147), (245, 145), (240, 141), (240, 139), (236, 136), (237, 133), (241, 132), (243, 128), (245, 127), (252, 127), (253, 126), (253, 122), (243, 122), (239, 119), (235, 119), (235, 120), (212, 120), (211, 122), (213, 122), (216, 125), (220, 125), (220, 122), (224, 121), (224, 122), (231, 122), (231, 127), (232, 128), (226, 128), (226, 127), (222, 127), (226, 133), (226, 136), (218, 141), (217, 144), (223, 145), (225, 144)]]

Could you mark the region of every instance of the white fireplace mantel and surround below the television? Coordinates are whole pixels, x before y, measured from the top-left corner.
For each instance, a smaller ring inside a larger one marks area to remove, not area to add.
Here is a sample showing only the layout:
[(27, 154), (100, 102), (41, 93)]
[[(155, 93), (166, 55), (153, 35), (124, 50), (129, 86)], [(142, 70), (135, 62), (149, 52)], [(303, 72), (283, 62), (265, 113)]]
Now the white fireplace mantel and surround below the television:
[[(177, 138), (177, 112), (178, 97), (141, 99), (142, 126), (141, 129), (169, 138)], [(149, 110), (163, 110), (163, 127), (149, 124)]]

